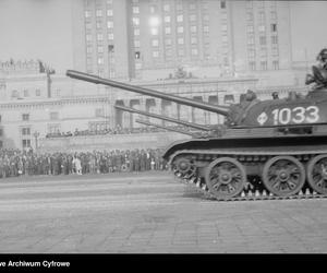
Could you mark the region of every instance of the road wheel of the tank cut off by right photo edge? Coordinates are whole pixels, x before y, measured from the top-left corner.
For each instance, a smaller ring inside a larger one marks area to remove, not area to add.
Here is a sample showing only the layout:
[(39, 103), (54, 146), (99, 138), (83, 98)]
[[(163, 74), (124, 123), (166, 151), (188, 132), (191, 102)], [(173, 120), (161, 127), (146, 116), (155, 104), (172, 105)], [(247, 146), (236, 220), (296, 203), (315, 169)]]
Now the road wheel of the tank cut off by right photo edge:
[(306, 177), (313, 190), (327, 193), (327, 155), (317, 155), (308, 162)]

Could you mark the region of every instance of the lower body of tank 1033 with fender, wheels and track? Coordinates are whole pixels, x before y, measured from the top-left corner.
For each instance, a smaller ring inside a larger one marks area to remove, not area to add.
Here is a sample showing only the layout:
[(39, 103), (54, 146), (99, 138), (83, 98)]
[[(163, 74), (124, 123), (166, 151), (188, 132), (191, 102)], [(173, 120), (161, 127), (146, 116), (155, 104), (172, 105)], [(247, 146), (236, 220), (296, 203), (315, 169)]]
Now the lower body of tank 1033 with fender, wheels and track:
[(327, 133), (193, 139), (164, 157), (182, 182), (217, 200), (327, 197)]

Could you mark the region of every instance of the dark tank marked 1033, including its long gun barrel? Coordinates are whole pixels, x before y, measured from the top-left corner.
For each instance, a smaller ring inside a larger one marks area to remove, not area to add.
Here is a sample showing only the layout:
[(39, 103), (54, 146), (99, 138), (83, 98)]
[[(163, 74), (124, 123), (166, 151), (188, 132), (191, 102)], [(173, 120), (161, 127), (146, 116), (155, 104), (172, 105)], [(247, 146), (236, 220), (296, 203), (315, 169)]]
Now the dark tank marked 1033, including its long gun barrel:
[(313, 71), (310, 82), (316, 85), (307, 94), (259, 100), (247, 91), (242, 103), (229, 107), (78, 71), (66, 74), (225, 116), (219, 130), (217, 124), (207, 138), (171, 143), (164, 158), (177, 179), (206, 197), (261, 200), (327, 195), (327, 87), (325, 72)]

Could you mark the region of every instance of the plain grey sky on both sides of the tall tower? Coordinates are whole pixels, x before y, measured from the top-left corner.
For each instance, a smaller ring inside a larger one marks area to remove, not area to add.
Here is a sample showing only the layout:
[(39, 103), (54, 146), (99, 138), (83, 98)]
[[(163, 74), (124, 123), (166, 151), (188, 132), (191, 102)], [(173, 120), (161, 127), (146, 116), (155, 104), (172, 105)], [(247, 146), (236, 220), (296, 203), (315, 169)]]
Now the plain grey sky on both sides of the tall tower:
[[(0, 0), (0, 60), (41, 59), (59, 73), (72, 68), (71, 0)], [(74, 0), (73, 0), (74, 1)], [(294, 60), (327, 47), (327, 1), (291, 1)]]

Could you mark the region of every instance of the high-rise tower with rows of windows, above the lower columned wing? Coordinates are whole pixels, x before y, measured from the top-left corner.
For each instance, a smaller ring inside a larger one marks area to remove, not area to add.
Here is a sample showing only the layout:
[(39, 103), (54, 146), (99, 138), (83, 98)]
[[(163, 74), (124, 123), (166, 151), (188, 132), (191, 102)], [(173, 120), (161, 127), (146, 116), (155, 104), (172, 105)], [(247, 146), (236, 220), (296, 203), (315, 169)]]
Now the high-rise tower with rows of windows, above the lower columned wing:
[(73, 21), (75, 67), (89, 73), (158, 80), (169, 78), (179, 66), (198, 78), (291, 69), (287, 1), (80, 0), (73, 4), (78, 19)]

